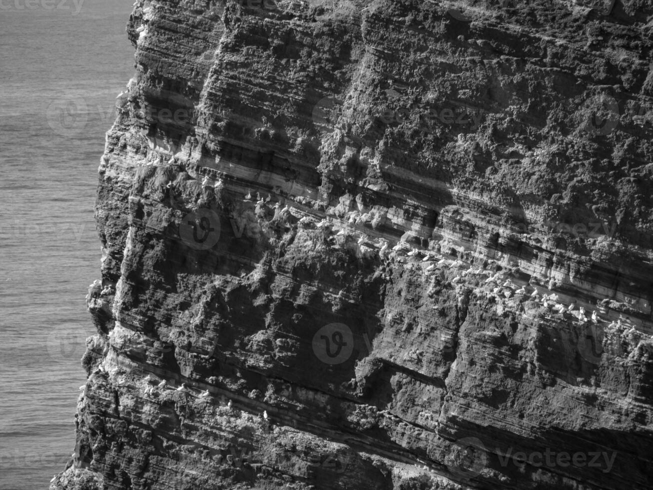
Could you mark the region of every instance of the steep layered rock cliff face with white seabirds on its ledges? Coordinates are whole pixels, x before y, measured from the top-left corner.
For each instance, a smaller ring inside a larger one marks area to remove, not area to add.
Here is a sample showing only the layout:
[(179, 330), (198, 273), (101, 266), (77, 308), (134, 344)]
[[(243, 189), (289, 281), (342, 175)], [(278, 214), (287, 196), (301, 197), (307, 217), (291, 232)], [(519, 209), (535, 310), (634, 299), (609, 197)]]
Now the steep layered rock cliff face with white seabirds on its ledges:
[(50, 488), (653, 487), (652, 15), (138, 3)]

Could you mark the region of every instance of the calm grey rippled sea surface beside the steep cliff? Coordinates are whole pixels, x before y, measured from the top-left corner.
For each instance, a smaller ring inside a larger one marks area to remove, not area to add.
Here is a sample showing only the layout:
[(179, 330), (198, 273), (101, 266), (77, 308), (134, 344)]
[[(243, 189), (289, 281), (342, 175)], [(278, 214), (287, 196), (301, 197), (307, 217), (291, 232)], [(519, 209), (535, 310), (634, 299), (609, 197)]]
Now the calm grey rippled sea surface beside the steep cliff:
[(74, 449), (94, 333), (84, 295), (101, 257), (97, 167), (134, 73), (133, 0), (75, 1), (0, 8), (2, 490), (47, 489)]

